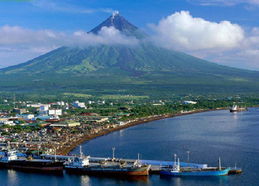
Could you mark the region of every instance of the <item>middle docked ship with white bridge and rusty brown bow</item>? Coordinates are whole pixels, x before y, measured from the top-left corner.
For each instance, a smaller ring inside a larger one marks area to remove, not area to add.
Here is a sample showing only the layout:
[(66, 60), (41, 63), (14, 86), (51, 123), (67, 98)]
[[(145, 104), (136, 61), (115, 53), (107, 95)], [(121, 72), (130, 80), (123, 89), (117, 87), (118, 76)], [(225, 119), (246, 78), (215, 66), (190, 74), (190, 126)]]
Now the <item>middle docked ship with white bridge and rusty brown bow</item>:
[(147, 176), (150, 165), (142, 165), (138, 160), (134, 162), (120, 161), (112, 158), (102, 162), (90, 163), (90, 156), (83, 156), (80, 148), (80, 156), (70, 159), (65, 164), (68, 173), (109, 175), (109, 176)]

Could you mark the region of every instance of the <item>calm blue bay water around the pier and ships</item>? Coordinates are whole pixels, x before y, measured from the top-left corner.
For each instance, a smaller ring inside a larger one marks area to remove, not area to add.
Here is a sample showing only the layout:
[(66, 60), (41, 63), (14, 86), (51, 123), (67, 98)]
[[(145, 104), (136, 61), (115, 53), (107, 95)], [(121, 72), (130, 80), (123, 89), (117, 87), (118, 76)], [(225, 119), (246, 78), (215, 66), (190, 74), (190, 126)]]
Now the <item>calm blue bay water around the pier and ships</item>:
[[(242, 167), (241, 175), (200, 178), (164, 178), (151, 175), (147, 179), (114, 179), (80, 175), (29, 174), (0, 170), (0, 186), (66, 186), (66, 185), (259, 185), (259, 108), (248, 112), (205, 112), (154, 121), (96, 138), (82, 145), (85, 154), (120, 158), (172, 160), (174, 153), (186, 161)], [(79, 149), (72, 153), (77, 154)]]

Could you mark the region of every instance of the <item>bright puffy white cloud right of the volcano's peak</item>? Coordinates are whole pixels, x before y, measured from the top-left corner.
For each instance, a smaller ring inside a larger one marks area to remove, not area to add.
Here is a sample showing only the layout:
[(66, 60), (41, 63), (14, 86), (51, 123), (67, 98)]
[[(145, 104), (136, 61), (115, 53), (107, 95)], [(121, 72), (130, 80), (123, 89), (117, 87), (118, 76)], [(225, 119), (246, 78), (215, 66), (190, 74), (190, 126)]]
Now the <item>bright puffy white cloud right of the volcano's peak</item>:
[(192, 17), (188, 11), (176, 12), (152, 27), (160, 45), (187, 51), (230, 49), (239, 46), (244, 38), (244, 31), (237, 24), (209, 22)]

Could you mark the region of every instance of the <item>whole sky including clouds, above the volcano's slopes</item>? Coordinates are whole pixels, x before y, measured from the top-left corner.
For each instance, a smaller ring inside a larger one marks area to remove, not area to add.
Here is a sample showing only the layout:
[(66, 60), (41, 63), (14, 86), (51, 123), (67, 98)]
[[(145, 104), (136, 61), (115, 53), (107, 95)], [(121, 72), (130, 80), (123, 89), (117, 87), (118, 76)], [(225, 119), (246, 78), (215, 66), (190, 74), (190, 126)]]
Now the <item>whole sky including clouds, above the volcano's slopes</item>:
[[(154, 34), (153, 38), (165, 38), (157, 42), (160, 46), (219, 64), (259, 70), (259, 0), (0, 0), (0, 34), (4, 36), (0, 39), (0, 68), (25, 62), (59, 47), (63, 44), (62, 38), (72, 40), (71, 34), (91, 30), (113, 10), (119, 10), (131, 23)], [(196, 35), (186, 30), (184, 35), (179, 35), (179, 31), (183, 32), (179, 28), (181, 24), (171, 24), (184, 17), (193, 25), (190, 28), (197, 30)], [(170, 33), (164, 33), (166, 26), (162, 20), (169, 24)], [(220, 24), (222, 21), (230, 25)], [(217, 29), (230, 28), (229, 32), (222, 33), (233, 32), (235, 37), (231, 43), (215, 43), (211, 39), (212, 28), (216, 33)], [(202, 37), (208, 30), (211, 34), (200, 38), (208, 45), (188, 46), (196, 45), (193, 37)], [(55, 41), (51, 39), (53, 35)], [(183, 44), (175, 39), (176, 36), (188, 42)], [(165, 41), (170, 43), (165, 45)]]

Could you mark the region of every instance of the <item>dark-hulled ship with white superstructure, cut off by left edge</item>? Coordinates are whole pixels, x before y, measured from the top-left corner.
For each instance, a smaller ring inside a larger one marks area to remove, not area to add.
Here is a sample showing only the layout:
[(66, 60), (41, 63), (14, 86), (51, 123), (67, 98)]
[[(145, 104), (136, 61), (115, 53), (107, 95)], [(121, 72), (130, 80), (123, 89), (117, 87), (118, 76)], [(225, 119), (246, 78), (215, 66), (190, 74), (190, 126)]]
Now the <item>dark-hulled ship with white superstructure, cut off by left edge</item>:
[(25, 171), (62, 172), (63, 163), (44, 159), (19, 159), (14, 150), (6, 151), (0, 157), (0, 168)]

